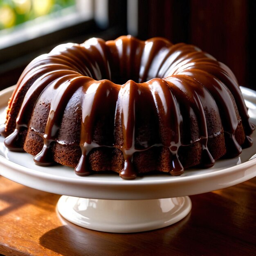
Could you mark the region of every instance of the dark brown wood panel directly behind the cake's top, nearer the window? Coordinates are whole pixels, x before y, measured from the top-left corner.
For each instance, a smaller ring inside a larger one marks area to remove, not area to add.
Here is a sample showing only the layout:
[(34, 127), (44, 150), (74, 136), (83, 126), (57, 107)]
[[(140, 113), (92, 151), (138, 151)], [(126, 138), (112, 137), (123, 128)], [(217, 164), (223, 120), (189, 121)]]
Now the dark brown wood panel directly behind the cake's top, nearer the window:
[(138, 37), (163, 36), (173, 43), (189, 40), (189, 0), (140, 0)]

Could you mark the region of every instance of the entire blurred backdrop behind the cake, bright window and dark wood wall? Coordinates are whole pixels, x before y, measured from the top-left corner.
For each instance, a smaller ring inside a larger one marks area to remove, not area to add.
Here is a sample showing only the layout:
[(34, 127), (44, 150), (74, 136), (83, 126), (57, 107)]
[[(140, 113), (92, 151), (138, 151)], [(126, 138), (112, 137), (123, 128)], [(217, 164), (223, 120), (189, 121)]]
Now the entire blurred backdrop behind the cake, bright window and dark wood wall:
[(126, 34), (197, 45), (256, 89), (256, 0), (0, 0), (0, 90), (60, 43)]

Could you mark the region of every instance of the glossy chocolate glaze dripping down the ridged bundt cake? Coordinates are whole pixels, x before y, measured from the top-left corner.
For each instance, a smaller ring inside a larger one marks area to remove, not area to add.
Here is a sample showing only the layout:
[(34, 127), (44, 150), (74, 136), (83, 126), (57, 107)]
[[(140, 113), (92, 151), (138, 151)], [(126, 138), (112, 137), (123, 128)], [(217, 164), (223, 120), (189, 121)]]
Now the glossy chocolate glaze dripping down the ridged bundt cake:
[[(72, 95), (80, 88), (83, 93), (76, 103), (81, 110), (82, 154), (75, 168), (78, 175), (91, 173), (88, 154), (92, 149), (108, 147), (118, 148), (124, 155), (124, 168), (120, 176), (134, 179), (137, 175), (132, 164), (134, 153), (159, 146), (171, 152), (170, 173), (180, 175), (184, 168), (178, 157), (179, 148), (197, 141), (202, 146), (202, 166), (211, 167), (215, 160), (207, 148), (207, 140), (215, 135), (208, 135), (207, 111), (221, 116), (229, 156), (241, 153), (241, 146), (234, 136), (240, 121), (246, 134), (243, 146), (252, 144), (249, 135), (254, 126), (249, 122), (234, 74), (227, 66), (193, 45), (172, 45), (163, 38), (144, 42), (131, 36), (108, 42), (91, 38), (81, 45), (59, 45), (27, 66), (9, 101), (9, 109), (16, 101), (18, 92), (25, 90), (27, 84), (30, 84), (30, 88), (18, 113), (16, 129), (5, 139), (5, 145), (10, 150), (22, 149), (16, 143), (19, 133), (21, 129), (34, 129), (29, 126), (29, 118), (34, 105), (47, 91), (51, 95), (49, 117), (44, 134), (38, 132), (43, 138), (44, 147), (34, 157), (36, 164), (50, 165), (54, 162), (51, 148), (54, 143), (60, 143), (58, 131), (61, 117)], [(144, 109), (145, 115), (150, 118), (150, 111), (145, 110), (145, 100), (158, 118), (159, 140), (155, 142), (137, 140), (136, 125), (139, 120), (136, 113)], [(107, 144), (93, 139), (94, 123), (103, 115), (99, 108), (102, 102), (106, 111), (114, 110), (115, 117), (112, 124), (113, 140)], [(199, 135), (196, 138), (184, 140), (181, 137), (184, 111), (192, 111), (197, 117)], [(223, 130), (220, 128), (216, 134)], [(1, 133), (5, 135), (3, 128)], [(61, 143), (65, 144), (65, 141)]]

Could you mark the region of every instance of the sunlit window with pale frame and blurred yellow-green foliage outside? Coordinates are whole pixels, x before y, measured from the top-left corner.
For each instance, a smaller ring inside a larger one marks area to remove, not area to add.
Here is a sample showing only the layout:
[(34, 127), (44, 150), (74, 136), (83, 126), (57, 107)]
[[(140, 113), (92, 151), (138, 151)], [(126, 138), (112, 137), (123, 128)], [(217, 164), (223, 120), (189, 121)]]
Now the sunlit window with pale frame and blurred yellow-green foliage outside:
[[(78, 25), (85, 26), (93, 18), (92, 0), (1, 2), (0, 63), (66, 40), (80, 32)], [(73, 33), (68, 29), (71, 27), (74, 28)], [(39, 38), (40, 41), (37, 40)]]

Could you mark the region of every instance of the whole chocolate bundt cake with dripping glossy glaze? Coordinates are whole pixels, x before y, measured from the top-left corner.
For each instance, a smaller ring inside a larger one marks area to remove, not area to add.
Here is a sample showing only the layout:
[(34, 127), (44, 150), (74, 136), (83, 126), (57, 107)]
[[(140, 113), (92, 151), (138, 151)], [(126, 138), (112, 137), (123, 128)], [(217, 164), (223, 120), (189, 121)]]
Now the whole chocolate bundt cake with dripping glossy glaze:
[(252, 144), (231, 70), (198, 47), (121, 36), (67, 43), (24, 70), (2, 127), (9, 150), (124, 179), (211, 167)]

